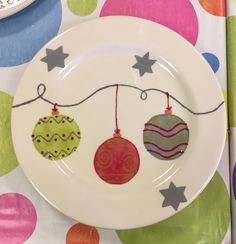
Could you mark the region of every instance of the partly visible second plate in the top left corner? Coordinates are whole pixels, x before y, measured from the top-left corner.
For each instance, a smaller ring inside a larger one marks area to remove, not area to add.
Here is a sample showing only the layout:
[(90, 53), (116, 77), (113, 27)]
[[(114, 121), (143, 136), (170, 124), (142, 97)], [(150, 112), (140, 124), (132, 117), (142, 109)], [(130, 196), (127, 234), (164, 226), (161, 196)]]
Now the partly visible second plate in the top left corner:
[(0, 19), (21, 11), (34, 1), (35, 0), (1, 0)]

